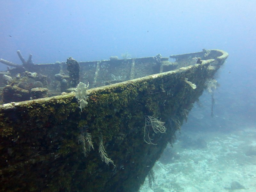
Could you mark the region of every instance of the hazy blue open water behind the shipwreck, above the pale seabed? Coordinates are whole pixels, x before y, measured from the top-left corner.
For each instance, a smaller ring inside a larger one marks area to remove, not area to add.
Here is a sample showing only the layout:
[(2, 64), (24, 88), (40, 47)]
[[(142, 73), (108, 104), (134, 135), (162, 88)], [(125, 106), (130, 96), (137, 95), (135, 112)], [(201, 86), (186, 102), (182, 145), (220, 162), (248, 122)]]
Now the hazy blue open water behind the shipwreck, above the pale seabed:
[(204, 93), (203, 108), (193, 109), (183, 132), (256, 128), (253, 0), (0, 0), (0, 7), (0, 58), (20, 64), (17, 50), (25, 59), (32, 53), (35, 63), (227, 51), (215, 77), (214, 116)]

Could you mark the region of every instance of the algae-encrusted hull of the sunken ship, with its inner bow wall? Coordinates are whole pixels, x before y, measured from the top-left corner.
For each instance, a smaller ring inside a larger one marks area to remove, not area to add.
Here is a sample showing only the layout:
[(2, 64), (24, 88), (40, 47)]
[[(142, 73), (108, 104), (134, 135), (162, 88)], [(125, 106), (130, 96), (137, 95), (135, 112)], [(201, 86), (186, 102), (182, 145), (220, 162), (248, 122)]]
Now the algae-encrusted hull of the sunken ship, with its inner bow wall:
[[(1, 105), (0, 190), (137, 191), (228, 53), (170, 57), (80, 62), (82, 112), (74, 92)], [(47, 71), (54, 95), (65, 68), (31, 72)]]

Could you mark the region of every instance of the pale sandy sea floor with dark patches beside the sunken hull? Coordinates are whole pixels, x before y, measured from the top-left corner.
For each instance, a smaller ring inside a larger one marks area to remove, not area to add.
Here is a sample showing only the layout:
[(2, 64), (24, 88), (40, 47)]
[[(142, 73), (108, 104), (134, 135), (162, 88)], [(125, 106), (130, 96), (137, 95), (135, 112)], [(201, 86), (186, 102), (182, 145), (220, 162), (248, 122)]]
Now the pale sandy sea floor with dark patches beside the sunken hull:
[[(230, 131), (231, 130), (231, 131)], [(256, 127), (177, 134), (140, 192), (256, 191)]]

